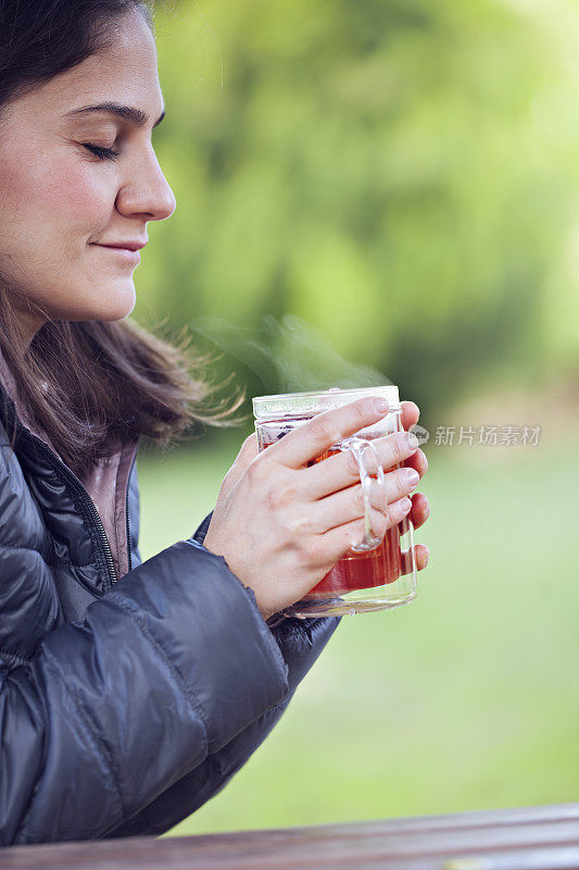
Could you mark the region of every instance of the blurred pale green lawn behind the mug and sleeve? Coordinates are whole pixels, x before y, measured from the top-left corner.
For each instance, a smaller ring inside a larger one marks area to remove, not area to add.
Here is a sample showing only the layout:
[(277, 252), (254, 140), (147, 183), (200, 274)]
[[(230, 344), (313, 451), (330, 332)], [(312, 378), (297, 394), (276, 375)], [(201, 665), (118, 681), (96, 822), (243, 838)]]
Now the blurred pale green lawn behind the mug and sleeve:
[[(572, 447), (429, 450), (417, 599), (344, 618), (270, 737), (173, 833), (577, 799)], [(144, 556), (191, 534), (234, 453), (140, 461)]]

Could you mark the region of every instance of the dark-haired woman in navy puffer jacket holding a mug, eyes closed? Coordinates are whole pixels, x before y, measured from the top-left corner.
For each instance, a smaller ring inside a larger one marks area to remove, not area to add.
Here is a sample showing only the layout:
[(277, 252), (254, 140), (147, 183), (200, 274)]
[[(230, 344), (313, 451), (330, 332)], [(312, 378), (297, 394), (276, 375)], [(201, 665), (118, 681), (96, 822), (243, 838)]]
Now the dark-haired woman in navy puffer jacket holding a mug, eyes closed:
[[(147, 224), (175, 208), (151, 144), (163, 114), (143, 2), (0, 0), (3, 844), (160, 834), (222, 788), (338, 622), (266, 620), (363, 525), (349, 457), (303, 465), (382, 417), (372, 401), (263, 456), (249, 438), (212, 518), (140, 563), (138, 439), (178, 435), (203, 391), (123, 320)], [(387, 474), (376, 525), (421, 524), (426, 498), (406, 496), (424, 456), (405, 434), (377, 444), (408, 468)]]

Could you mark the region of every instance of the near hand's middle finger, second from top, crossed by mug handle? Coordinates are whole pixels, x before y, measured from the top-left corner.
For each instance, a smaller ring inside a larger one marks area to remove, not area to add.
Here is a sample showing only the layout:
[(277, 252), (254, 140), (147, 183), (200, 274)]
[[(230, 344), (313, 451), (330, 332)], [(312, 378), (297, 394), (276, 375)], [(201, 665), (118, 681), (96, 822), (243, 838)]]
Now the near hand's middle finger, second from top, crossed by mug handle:
[[(383, 438), (374, 438), (372, 444), (383, 469), (401, 465), (418, 449), (416, 436), (408, 432), (394, 432)], [(344, 450), (304, 470), (303, 477), (306, 497), (318, 499), (352, 486), (360, 480), (360, 469), (352, 451)]]

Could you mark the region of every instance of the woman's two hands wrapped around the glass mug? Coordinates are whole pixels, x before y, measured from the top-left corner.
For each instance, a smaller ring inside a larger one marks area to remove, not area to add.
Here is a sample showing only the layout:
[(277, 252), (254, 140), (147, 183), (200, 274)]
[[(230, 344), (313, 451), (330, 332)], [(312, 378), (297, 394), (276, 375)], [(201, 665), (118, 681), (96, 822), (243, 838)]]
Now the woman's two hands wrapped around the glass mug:
[[(317, 414), (261, 453), (254, 435), (241, 447), (223, 482), (204, 544), (253, 589), (265, 619), (300, 600), (362, 539), (364, 498), (352, 453), (310, 468), (307, 462), (376, 423), (387, 410), (382, 399), (361, 399)], [(417, 412), (415, 405), (404, 402), (406, 428)], [(421, 525), (428, 515), (425, 496), (407, 498), (426, 470), (416, 439), (399, 432), (373, 444), (385, 469), (403, 465), (386, 474), (386, 511), (374, 488), (374, 532), (382, 536), (408, 514)], [(423, 549), (416, 548), (419, 567), (427, 554)]]

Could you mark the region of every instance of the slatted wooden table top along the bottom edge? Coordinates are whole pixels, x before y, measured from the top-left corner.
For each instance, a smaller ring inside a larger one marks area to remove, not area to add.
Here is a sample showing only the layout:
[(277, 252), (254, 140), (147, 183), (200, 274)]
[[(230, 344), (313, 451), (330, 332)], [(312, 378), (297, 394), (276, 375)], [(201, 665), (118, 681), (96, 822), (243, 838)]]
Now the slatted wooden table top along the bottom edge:
[(0, 868), (42, 870), (562, 870), (579, 868), (579, 804), (449, 816), (134, 837), (0, 850)]

